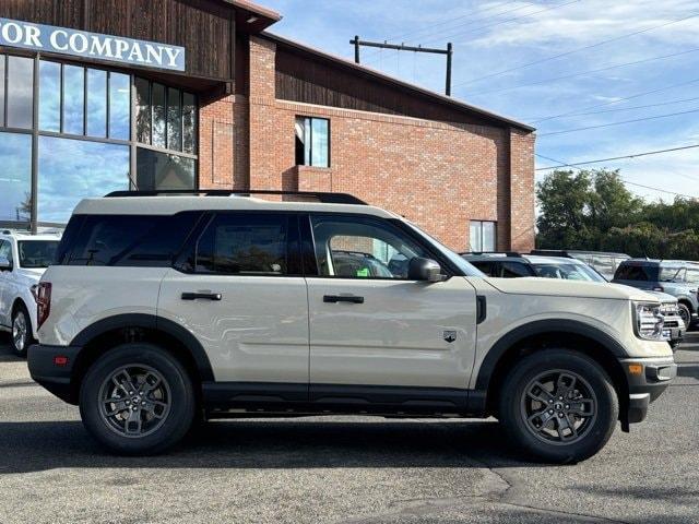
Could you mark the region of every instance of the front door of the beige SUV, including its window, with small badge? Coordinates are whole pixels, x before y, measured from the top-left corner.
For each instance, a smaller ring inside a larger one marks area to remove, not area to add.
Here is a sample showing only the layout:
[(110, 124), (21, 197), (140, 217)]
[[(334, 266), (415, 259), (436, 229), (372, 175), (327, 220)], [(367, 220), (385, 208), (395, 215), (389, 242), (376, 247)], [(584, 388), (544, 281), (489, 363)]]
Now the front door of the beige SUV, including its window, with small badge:
[(398, 396), (451, 389), (465, 400), (476, 342), (473, 286), (462, 276), (407, 279), (412, 258), (434, 257), (390, 221), (316, 215), (310, 228), (318, 266), (307, 276), (311, 400), (343, 390), (363, 396), (356, 386)]

